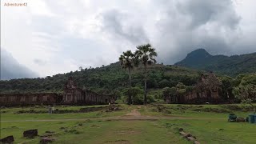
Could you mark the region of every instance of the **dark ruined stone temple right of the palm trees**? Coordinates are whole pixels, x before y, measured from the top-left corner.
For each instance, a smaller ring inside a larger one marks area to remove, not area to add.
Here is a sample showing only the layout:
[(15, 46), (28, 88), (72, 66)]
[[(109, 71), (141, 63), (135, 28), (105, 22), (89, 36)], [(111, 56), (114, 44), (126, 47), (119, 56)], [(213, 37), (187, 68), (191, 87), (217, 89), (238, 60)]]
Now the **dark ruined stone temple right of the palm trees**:
[(167, 103), (219, 103), (223, 102), (221, 94), (222, 82), (210, 72), (208, 75), (201, 74), (196, 86), (184, 95), (165, 98)]

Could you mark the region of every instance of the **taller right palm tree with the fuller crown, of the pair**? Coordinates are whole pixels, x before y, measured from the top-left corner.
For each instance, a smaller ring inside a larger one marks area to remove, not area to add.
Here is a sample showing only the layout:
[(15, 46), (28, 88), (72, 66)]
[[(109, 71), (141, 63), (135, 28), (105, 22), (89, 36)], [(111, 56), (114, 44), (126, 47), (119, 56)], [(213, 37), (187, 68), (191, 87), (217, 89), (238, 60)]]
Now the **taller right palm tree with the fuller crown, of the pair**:
[(147, 66), (157, 62), (155, 60), (155, 57), (158, 56), (157, 52), (155, 52), (155, 49), (148, 43), (146, 45), (137, 46), (137, 49), (135, 51), (135, 59), (138, 61), (135, 62), (135, 64), (138, 66), (138, 62), (142, 62), (142, 65), (144, 66), (144, 105), (146, 105), (146, 78), (147, 78)]

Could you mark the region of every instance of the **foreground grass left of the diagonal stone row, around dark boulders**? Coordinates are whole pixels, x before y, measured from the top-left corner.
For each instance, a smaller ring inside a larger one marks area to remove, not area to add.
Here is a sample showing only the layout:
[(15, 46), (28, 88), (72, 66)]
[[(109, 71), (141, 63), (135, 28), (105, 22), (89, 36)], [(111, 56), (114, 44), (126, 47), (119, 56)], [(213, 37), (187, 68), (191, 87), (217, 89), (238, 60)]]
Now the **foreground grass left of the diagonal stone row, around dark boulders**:
[[(61, 127), (66, 129), (61, 130)], [(54, 131), (55, 143), (186, 143), (172, 130), (154, 121), (4, 122), (1, 137), (13, 134), (15, 142), (38, 143), (39, 137), (22, 138), (22, 132), (28, 128), (38, 129), (39, 135), (46, 134), (46, 130)]]

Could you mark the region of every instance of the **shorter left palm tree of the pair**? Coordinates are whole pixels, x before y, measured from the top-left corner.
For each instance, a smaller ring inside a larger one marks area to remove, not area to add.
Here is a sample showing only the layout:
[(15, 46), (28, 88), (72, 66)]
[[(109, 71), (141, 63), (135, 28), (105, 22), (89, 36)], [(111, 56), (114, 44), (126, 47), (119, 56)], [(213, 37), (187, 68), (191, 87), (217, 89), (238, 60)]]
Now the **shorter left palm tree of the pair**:
[[(119, 62), (121, 63), (122, 68), (128, 70), (130, 88), (131, 88), (131, 70), (134, 68), (133, 59), (134, 59), (134, 54), (130, 50), (123, 52), (119, 58)], [(128, 104), (129, 105), (131, 104), (131, 94), (129, 94)]]

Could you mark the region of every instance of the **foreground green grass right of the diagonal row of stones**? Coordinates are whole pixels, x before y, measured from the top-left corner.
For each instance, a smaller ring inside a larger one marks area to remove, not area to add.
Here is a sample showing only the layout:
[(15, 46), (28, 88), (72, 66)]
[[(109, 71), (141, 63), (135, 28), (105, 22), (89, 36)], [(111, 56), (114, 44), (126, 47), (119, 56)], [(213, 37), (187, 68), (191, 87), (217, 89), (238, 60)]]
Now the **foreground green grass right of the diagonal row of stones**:
[[(178, 128), (194, 135), (201, 143), (255, 143), (256, 124), (226, 120), (161, 120), (174, 133)], [(177, 134), (178, 135), (178, 134)]]

